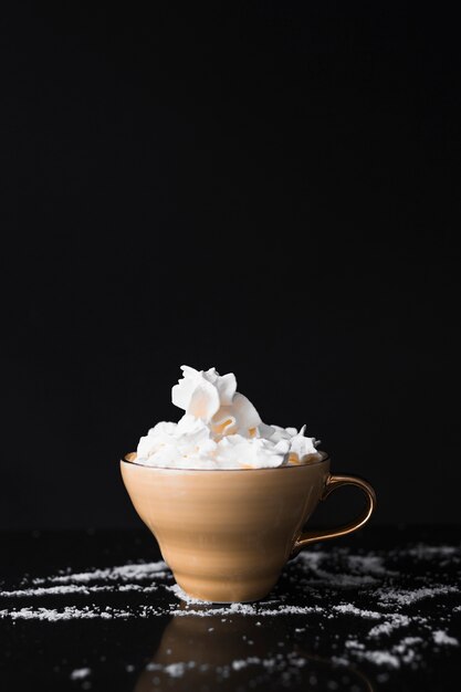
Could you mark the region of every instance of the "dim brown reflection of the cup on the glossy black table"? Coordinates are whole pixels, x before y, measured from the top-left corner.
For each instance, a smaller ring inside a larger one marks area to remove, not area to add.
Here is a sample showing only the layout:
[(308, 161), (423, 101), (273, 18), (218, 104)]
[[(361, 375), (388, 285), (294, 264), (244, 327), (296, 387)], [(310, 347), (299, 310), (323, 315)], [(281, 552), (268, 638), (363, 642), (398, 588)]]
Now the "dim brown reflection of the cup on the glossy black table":
[[(199, 610), (203, 609), (196, 606)], [(205, 608), (206, 609), (206, 608)], [(134, 692), (253, 689), (373, 692), (353, 665), (335, 665), (293, 641), (292, 618), (174, 617)], [(274, 626), (276, 622), (276, 626)], [(287, 646), (281, 647), (286, 642)], [(250, 684), (249, 684), (250, 683)]]

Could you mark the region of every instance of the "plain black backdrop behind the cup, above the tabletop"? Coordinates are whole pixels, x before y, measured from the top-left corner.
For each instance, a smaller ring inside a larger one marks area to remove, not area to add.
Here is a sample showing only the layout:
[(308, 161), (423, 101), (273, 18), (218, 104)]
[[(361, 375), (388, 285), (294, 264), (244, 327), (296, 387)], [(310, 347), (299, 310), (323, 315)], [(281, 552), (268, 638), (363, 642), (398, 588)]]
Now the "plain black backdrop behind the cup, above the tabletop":
[(1, 527), (138, 525), (118, 459), (178, 418), (181, 364), (306, 422), (377, 523), (460, 518), (458, 31), (405, 2), (3, 14)]

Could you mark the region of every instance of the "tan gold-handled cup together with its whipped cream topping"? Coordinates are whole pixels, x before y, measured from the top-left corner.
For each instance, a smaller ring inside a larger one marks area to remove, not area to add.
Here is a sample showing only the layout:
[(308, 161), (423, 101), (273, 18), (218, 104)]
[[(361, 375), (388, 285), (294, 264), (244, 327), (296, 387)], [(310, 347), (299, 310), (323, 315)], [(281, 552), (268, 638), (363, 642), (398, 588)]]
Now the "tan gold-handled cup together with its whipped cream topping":
[[(140, 438), (121, 462), (123, 481), (184, 591), (213, 602), (258, 600), (301, 549), (363, 526), (375, 492), (358, 476), (332, 475), (305, 427), (264, 423), (233, 374), (181, 369), (171, 399), (182, 418)], [(365, 494), (363, 513), (337, 528), (306, 528), (317, 504), (347, 484)]]

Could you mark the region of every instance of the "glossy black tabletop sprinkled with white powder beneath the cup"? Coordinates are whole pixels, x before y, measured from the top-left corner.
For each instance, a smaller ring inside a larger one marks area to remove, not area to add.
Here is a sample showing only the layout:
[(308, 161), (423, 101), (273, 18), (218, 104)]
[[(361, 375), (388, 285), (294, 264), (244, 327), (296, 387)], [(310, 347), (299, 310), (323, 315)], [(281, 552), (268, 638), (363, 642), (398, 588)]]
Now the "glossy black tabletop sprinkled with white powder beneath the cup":
[(262, 602), (186, 602), (147, 531), (3, 534), (4, 690), (459, 690), (459, 527), (369, 527)]

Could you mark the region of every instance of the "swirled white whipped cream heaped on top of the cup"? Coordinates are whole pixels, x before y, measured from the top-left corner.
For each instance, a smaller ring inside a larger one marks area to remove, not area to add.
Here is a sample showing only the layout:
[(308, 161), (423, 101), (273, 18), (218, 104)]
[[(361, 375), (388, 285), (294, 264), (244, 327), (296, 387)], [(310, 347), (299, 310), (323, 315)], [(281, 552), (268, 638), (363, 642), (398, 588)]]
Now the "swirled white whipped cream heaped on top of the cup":
[(237, 391), (233, 373), (181, 366), (171, 400), (185, 411), (177, 422), (159, 422), (142, 437), (136, 461), (168, 469), (265, 469), (322, 459), (305, 426), (263, 423), (251, 401)]

